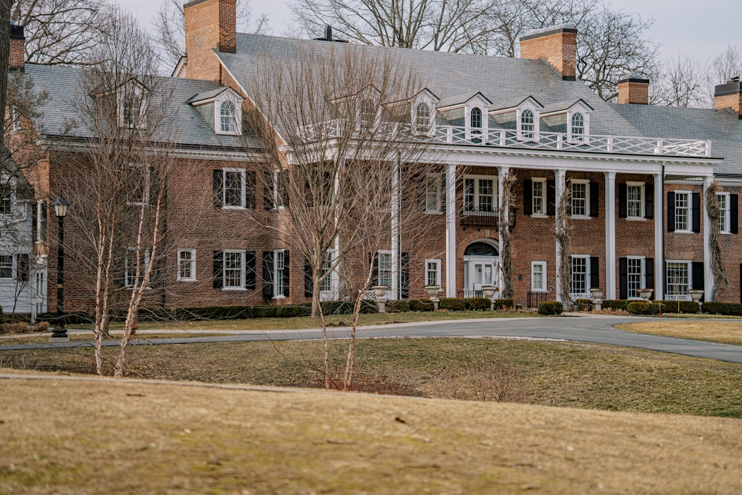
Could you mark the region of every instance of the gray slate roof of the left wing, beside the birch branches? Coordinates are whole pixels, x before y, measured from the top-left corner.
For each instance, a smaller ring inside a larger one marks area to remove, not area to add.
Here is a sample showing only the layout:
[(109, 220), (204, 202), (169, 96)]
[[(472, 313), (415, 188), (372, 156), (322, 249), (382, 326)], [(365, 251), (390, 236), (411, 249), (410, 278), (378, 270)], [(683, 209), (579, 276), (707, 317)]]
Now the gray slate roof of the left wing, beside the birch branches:
[[(47, 91), (50, 98), (40, 108), (43, 116), (36, 127), (46, 137), (60, 136), (65, 132), (68, 122), (76, 125), (67, 135), (75, 137), (93, 137), (91, 131), (82, 125), (85, 117), (79, 110), (82, 98), (88, 98), (82, 85), (82, 70), (79, 68), (58, 67), (49, 65), (26, 64), (25, 72), (33, 77), (34, 91)], [(169, 114), (175, 126), (174, 133), (163, 130), (163, 136), (173, 136), (179, 145), (188, 148), (243, 148), (243, 145), (255, 145), (249, 136), (217, 135), (197, 108), (188, 105), (188, 100), (198, 94), (224, 91), (216, 82), (195, 79), (177, 79), (165, 77), (165, 84), (171, 91), (171, 108)], [(244, 138), (244, 141), (243, 141)]]

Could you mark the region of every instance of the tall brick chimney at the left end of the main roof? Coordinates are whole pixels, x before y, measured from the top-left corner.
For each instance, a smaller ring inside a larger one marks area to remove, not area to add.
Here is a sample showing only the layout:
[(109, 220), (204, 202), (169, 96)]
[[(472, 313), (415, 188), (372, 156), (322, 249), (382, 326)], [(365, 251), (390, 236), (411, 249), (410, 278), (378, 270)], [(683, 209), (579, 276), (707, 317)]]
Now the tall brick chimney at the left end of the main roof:
[(236, 0), (193, 0), (183, 5), (185, 15), (185, 77), (220, 82), (214, 50), (237, 50)]

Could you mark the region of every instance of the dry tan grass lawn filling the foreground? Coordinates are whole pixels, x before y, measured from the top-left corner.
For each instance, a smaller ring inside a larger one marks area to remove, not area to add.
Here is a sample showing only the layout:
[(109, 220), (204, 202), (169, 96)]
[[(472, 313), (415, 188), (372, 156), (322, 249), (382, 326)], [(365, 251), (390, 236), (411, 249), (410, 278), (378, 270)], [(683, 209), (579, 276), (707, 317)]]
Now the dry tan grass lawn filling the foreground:
[(739, 419), (62, 378), (0, 379), (0, 493), (742, 493)]

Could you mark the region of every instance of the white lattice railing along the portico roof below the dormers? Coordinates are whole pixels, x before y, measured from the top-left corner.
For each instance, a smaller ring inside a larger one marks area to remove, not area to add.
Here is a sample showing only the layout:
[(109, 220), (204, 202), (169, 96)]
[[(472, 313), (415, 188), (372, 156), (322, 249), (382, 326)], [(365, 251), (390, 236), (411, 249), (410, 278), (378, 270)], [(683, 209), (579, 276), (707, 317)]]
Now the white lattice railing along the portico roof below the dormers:
[[(309, 125), (299, 131), (303, 140), (332, 139), (361, 131), (347, 127), (340, 119)], [(524, 137), (513, 129), (481, 129), (471, 131), (459, 125), (436, 125), (429, 134), (415, 131), (410, 124), (381, 122), (372, 128), (364, 128), (381, 136), (408, 136), (415, 139), (452, 145), (479, 145), (499, 148), (528, 148), (555, 151), (578, 151), (585, 153), (617, 153), (639, 155), (661, 155), (673, 157), (710, 157), (711, 140), (670, 139), (666, 137), (612, 136), (590, 134), (580, 140), (568, 139), (561, 132), (539, 132)]]

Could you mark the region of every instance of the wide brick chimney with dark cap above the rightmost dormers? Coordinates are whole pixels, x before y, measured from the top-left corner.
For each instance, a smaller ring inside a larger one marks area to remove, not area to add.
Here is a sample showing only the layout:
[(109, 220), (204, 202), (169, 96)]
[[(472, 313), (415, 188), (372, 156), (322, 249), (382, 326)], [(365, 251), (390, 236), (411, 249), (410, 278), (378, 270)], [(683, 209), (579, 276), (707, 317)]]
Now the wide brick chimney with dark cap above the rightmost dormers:
[(577, 75), (577, 30), (571, 24), (533, 30), (520, 39), (520, 58), (543, 60), (557, 69), (562, 79)]

